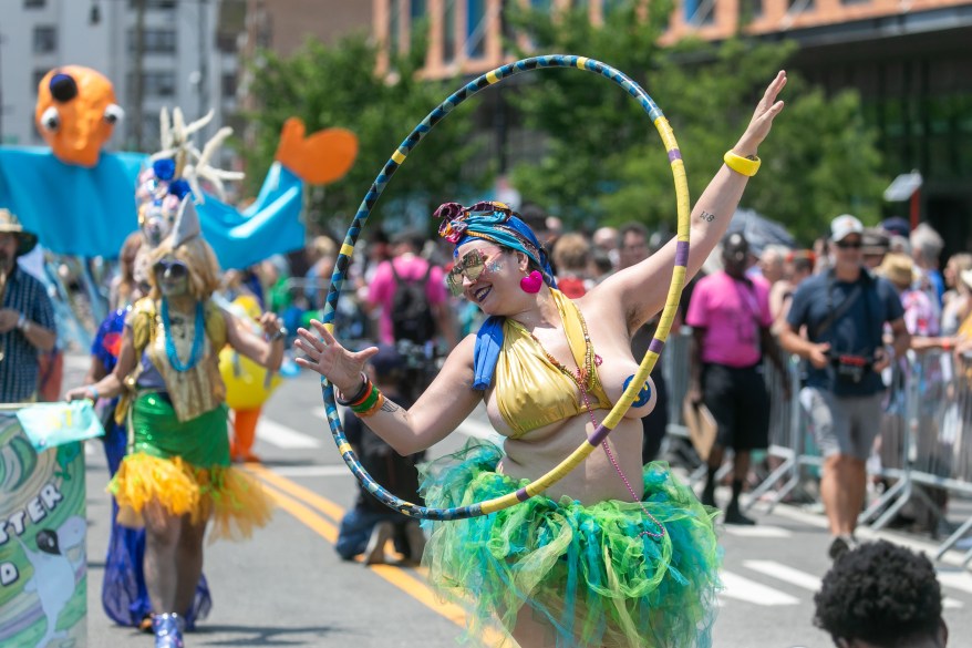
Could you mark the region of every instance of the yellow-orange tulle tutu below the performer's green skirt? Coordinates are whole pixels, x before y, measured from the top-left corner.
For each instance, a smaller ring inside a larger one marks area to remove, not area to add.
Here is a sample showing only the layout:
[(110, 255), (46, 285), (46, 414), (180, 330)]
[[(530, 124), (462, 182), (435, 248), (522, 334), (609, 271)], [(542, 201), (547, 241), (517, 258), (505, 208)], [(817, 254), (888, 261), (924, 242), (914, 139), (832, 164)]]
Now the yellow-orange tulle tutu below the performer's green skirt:
[(210, 543), (249, 537), (270, 521), (273, 506), (246, 471), (200, 469), (178, 456), (161, 459), (145, 452), (122, 461), (108, 491), (118, 503), (120, 524), (137, 528), (145, 525), (146, 516), (189, 515), (193, 524), (213, 522)]

